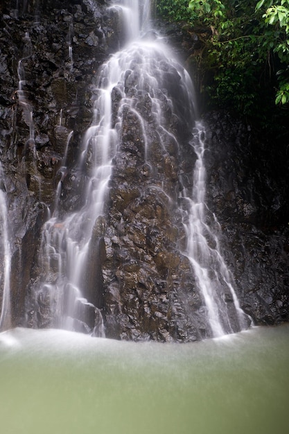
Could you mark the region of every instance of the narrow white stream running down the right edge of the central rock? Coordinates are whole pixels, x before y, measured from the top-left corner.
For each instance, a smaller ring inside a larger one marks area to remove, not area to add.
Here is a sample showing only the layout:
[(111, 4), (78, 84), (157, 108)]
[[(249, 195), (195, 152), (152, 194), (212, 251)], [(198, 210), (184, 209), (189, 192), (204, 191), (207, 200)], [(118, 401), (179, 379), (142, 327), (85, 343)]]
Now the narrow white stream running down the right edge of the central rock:
[[(205, 130), (202, 123), (195, 125), (193, 148), (197, 155), (193, 175), (193, 192), (185, 191), (183, 196), (189, 202), (186, 215), (188, 255), (198, 286), (205, 303), (211, 336), (216, 338), (247, 328), (247, 315), (240, 309), (232, 284), (232, 277), (220, 253), (216, 216), (206, 205), (206, 168), (204, 166)], [(210, 215), (211, 214), (211, 215)]]

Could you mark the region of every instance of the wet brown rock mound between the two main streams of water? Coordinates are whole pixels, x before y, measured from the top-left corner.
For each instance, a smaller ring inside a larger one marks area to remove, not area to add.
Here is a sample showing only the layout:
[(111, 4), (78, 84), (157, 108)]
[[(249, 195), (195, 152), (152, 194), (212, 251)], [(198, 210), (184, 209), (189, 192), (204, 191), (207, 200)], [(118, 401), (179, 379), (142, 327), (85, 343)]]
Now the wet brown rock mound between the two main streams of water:
[[(170, 134), (161, 137), (150, 98), (140, 98), (135, 110), (123, 108), (104, 234), (106, 333), (134, 340), (197, 340), (201, 301), (189, 260), (180, 252), (185, 234), (178, 204), (182, 177), (192, 179), (195, 154), (186, 115), (171, 110), (179, 76), (164, 60), (158, 66), (167, 71), (158, 97), (166, 114), (161, 127)], [(195, 309), (186, 311), (187, 303)]]

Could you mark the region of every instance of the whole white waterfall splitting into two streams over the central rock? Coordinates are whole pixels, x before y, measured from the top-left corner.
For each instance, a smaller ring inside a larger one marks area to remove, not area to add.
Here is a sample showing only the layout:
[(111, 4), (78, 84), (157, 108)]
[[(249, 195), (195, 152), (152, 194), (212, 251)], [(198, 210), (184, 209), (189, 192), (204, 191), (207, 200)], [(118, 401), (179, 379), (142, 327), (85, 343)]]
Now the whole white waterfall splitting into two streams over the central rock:
[[(148, 0), (127, 0), (110, 6), (119, 10), (124, 26), (128, 22), (133, 26), (126, 26), (130, 31), (125, 34), (125, 47), (112, 55), (98, 71), (94, 118), (83, 139), (74, 171), (74, 183), (81, 191), (75, 210), (68, 213), (62, 207), (62, 182), (68, 171), (65, 160), (72, 132), (67, 139), (54, 209), (42, 230), (40, 284), (34, 289), (35, 304), (38, 305), (35, 311), (40, 311), (44, 318), (41, 324), (38, 323), (40, 327), (61, 327), (94, 336), (104, 335), (101, 314), (103, 277), (98, 269), (98, 250), (101, 250), (103, 242), (105, 204), (109, 199), (114, 159), (119, 153), (125, 129), (123, 116), (128, 112), (137, 119), (135, 140), (139, 154), (143, 155), (142, 164), (146, 165), (148, 173), (154, 174), (152, 181), (147, 182), (147, 189), (159, 191), (170, 202), (178, 200), (179, 186), (175, 183), (175, 186), (168, 187), (163, 175), (158, 173), (158, 164), (150, 159), (152, 134), (147, 131), (150, 124), (150, 128), (155, 130), (158, 152), (165, 159), (166, 171), (172, 171), (173, 158), (168, 148), (178, 149), (179, 144), (171, 125), (167, 125), (166, 113), (170, 112), (176, 124), (181, 116), (187, 125), (194, 125), (193, 86), (188, 73), (162, 44), (161, 38), (155, 34), (144, 37), (149, 7)], [(173, 97), (166, 95), (166, 86), (170, 87)], [(150, 107), (146, 115), (143, 114), (143, 104)], [(178, 105), (177, 110), (175, 105)], [(189, 211), (179, 210), (186, 215), (184, 227), (188, 243), (184, 254), (191, 261), (204, 299), (200, 312), (211, 327), (211, 334), (207, 333), (207, 336), (221, 336), (242, 329), (245, 321), (229, 271), (218, 249), (218, 238), (205, 223), (204, 141), (202, 128), (198, 124), (196, 128), (200, 134), (192, 141), (198, 157), (193, 198), (190, 191), (183, 189), (182, 198), (190, 206)], [(94, 270), (91, 270), (92, 256)], [(91, 273), (94, 276), (92, 286)]]

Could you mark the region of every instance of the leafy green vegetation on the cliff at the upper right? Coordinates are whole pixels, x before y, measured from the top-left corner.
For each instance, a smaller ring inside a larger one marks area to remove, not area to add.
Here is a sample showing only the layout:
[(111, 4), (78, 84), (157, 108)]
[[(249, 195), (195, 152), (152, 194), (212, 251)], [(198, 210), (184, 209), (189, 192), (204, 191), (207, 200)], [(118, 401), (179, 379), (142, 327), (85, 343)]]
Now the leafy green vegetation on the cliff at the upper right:
[(261, 124), (288, 117), (289, 0), (158, 0), (157, 12), (202, 41), (192, 58), (209, 105)]

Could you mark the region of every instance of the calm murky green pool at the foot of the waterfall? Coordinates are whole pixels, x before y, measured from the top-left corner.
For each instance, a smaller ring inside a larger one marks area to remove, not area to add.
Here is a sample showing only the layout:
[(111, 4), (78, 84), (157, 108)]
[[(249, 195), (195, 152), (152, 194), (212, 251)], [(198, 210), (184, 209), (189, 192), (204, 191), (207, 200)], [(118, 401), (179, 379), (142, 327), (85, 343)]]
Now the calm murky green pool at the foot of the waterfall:
[(289, 432), (289, 325), (175, 345), (0, 334), (5, 434)]

